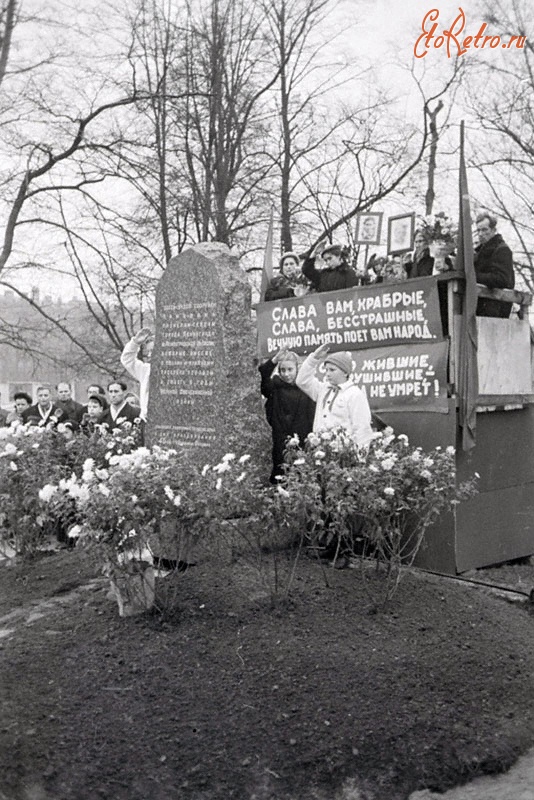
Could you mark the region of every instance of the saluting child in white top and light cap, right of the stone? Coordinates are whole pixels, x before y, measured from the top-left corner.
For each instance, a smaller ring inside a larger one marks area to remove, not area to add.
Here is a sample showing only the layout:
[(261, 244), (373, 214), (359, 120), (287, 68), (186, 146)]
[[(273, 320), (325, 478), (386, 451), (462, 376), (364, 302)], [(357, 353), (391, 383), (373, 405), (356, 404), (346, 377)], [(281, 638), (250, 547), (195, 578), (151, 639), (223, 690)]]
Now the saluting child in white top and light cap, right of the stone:
[[(302, 364), (296, 378), (297, 386), (316, 402), (314, 431), (344, 428), (358, 447), (367, 447), (373, 437), (371, 409), (365, 392), (349, 376), (352, 358), (349, 353), (330, 353), (322, 344)], [(315, 372), (324, 361), (325, 380)]]

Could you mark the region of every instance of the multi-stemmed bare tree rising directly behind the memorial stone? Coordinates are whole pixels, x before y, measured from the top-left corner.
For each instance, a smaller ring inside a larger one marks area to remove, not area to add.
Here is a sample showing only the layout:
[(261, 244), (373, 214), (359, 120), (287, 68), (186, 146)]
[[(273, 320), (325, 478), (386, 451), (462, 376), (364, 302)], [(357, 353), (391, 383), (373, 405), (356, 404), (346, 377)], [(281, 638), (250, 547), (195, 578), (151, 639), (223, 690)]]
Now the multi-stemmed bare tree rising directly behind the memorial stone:
[(189, 4), (184, 151), (199, 239), (243, 239), (268, 201), (269, 92), (279, 67), (261, 6)]

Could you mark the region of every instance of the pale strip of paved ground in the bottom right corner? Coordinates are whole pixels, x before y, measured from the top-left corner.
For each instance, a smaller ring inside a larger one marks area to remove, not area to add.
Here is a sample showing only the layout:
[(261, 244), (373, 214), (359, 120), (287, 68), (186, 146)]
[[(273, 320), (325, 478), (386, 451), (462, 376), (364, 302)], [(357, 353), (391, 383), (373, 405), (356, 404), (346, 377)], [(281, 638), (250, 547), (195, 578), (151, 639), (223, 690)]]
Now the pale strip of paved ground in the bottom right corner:
[(503, 775), (476, 778), (445, 794), (425, 789), (411, 794), (409, 800), (534, 800), (534, 748)]

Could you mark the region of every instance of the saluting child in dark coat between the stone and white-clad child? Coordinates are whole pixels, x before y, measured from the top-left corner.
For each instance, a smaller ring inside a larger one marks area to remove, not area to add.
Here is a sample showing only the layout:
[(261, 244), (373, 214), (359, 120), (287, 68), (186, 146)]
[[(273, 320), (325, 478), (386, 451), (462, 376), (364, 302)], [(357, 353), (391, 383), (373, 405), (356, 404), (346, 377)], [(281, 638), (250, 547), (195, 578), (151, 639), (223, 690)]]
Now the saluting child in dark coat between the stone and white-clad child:
[[(277, 365), (278, 375), (273, 376)], [(303, 444), (313, 428), (315, 403), (295, 383), (298, 368), (298, 356), (288, 350), (280, 350), (259, 367), (261, 393), (267, 398), (265, 413), (273, 434), (271, 483), (276, 483), (276, 476), (282, 474), (288, 436), (297, 434)]]

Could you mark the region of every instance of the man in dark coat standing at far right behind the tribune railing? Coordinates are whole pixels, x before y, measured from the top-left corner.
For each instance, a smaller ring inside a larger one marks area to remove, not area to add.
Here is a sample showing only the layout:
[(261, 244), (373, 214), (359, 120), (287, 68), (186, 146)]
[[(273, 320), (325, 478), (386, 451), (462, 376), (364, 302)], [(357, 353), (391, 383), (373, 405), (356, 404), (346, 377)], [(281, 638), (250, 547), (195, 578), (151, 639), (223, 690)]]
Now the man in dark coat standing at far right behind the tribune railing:
[[(497, 220), (490, 214), (477, 217), (479, 245), (475, 249), (475, 275), (477, 283), (489, 289), (513, 289), (515, 285), (512, 251), (500, 233)], [(477, 304), (479, 317), (509, 317), (511, 303), (480, 297)]]

